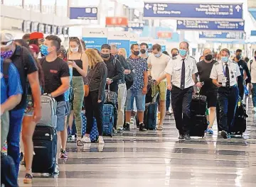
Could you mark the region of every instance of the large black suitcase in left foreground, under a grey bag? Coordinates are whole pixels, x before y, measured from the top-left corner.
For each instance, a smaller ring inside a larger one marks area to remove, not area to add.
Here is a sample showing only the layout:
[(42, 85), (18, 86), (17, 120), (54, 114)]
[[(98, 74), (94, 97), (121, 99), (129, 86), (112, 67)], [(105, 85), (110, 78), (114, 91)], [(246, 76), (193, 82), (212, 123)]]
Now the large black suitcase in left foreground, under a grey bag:
[(45, 125), (36, 125), (33, 134), (32, 172), (54, 174), (57, 154), (57, 132), (54, 128)]

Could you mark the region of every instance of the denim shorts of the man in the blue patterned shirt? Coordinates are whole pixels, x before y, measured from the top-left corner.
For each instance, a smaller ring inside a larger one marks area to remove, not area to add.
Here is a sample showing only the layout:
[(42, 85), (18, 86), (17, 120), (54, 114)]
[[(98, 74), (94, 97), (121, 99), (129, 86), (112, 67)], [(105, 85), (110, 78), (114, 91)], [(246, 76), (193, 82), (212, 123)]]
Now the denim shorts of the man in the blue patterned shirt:
[(134, 105), (134, 98), (136, 101), (137, 111), (145, 111), (145, 98), (142, 94), (142, 89), (129, 89), (127, 90), (127, 104), (126, 111), (132, 111)]

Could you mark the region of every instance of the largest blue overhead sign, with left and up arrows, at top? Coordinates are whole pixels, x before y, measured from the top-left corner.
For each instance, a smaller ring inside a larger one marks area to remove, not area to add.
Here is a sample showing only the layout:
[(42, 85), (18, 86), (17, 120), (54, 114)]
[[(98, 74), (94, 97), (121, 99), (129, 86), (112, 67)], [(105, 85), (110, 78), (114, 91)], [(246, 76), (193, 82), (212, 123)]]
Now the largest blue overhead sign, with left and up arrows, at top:
[(144, 3), (144, 18), (242, 20), (242, 4)]

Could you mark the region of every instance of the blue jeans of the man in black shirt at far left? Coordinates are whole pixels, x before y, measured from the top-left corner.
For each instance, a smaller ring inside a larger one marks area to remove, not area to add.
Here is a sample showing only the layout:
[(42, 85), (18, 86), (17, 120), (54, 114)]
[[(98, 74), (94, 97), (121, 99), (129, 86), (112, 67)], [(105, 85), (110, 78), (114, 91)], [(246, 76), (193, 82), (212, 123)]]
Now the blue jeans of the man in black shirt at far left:
[(24, 115), (24, 109), (16, 111), (10, 111), (10, 127), (7, 136), (7, 154), (14, 159), (16, 178), (18, 179), (18, 169), (20, 164), (20, 136), (21, 136), (21, 124)]

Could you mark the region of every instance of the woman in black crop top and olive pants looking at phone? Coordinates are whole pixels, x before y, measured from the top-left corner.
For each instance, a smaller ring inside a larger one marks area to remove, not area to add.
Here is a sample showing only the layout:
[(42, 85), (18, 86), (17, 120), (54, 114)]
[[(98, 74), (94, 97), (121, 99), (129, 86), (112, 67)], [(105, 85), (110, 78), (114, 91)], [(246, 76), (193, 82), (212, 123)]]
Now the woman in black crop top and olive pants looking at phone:
[[(78, 132), (78, 140), (82, 137), (82, 102), (84, 99), (83, 78), (87, 75), (88, 61), (85, 55), (85, 50), (82, 47), (81, 41), (78, 37), (70, 37), (68, 52), (68, 65), (73, 67), (72, 87), (74, 99), (71, 101), (70, 118), (75, 114), (75, 124)], [(71, 119), (72, 120), (72, 119)], [(79, 141), (81, 142), (81, 140)], [(83, 142), (83, 140), (82, 140)]]

